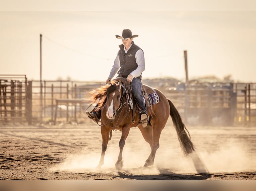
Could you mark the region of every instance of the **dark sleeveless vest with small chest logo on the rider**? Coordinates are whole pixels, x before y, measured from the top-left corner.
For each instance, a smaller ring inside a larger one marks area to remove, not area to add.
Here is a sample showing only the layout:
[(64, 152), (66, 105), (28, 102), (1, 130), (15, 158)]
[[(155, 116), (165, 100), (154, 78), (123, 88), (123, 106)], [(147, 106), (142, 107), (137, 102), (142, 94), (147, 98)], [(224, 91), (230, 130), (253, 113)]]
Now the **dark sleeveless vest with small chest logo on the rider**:
[[(121, 77), (127, 78), (127, 76), (129, 74), (131, 74), (131, 72), (133, 72), (134, 70), (136, 70), (138, 68), (138, 65), (137, 65), (136, 59), (135, 59), (135, 54), (141, 48), (138, 47), (137, 45), (135, 45), (134, 42), (132, 41), (131, 47), (125, 54), (124, 45), (121, 44), (121, 45), (119, 45), (119, 47), (120, 47), (120, 50), (118, 51), (118, 56), (119, 56), (121, 68), (118, 71), (118, 74), (119, 74), (118, 77), (120, 77), (120, 75), (122, 75)], [(141, 80), (141, 75), (138, 76), (137, 78)]]

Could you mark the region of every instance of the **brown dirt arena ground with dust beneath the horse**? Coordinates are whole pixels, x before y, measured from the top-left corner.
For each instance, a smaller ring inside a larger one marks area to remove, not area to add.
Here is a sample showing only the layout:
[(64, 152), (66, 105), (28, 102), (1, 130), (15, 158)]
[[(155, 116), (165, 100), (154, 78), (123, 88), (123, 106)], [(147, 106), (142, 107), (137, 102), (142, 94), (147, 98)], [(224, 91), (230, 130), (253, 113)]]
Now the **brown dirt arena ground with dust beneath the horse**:
[(100, 127), (59, 124), (0, 127), (0, 180), (256, 180), (256, 127), (187, 126), (208, 173), (199, 174), (182, 156), (168, 121), (160, 137), (154, 167), (142, 168), (150, 153), (138, 128), (132, 128), (123, 152), (123, 170), (115, 169), (120, 131), (113, 131), (105, 163)]

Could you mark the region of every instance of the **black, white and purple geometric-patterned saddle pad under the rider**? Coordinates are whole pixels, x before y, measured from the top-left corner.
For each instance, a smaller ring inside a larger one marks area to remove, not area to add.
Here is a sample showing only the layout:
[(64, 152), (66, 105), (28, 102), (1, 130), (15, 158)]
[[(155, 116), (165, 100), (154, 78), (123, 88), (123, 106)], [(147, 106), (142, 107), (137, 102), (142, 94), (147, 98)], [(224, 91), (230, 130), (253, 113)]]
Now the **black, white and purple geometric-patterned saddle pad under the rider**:
[[(148, 106), (149, 107), (151, 107), (152, 105), (160, 102), (160, 97), (153, 88), (151, 88), (147, 85), (143, 85), (143, 87), (144, 87), (144, 90), (146, 91), (146, 93), (145, 93), (142, 90), (143, 101), (144, 101), (145, 106), (146, 106), (146, 99), (148, 100), (148, 103), (149, 103)], [(130, 100), (129, 100), (129, 108), (133, 109), (133, 100), (132, 100), (132, 98), (130, 98)]]

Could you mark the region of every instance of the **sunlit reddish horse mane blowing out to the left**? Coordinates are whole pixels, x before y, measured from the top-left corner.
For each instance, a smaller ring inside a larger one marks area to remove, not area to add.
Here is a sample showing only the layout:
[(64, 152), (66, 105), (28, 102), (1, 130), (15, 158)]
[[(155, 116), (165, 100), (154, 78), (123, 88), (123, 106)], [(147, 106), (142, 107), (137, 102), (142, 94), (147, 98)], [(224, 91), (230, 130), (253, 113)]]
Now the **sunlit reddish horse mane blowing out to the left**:
[(118, 82), (111, 81), (107, 85), (102, 86), (90, 92), (91, 100), (93, 103), (97, 102), (97, 108), (94, 111), (100, 110), (106, 102), (107, 95), (118, 90)]

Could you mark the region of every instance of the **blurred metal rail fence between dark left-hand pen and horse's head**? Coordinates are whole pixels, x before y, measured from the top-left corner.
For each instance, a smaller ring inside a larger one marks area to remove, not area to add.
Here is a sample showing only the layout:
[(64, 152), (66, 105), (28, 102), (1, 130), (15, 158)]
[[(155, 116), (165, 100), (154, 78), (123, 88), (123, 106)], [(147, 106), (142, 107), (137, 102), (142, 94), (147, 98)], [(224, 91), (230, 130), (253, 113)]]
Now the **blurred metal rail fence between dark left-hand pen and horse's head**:
[[(86, 117), (84, 111), (90, 102), (86, 99), (86, 95), (92, 89), (102, 85), (101, 82), (42, 81), (42, 105), (40, 105), (40, 81), (33, 81), (33, 121), (40, 122), (40, 117), (47, 122), (55, 122), (55, 116), (59, 121), (77, 121), (77, 118)], [(61, 99), (67, 101), (57, 101)], [(77, 99), (84, 99), (84, 101), (74, 103)]]

